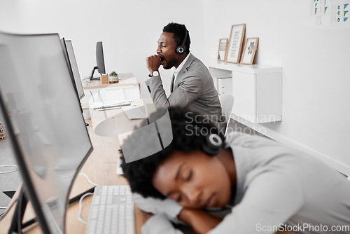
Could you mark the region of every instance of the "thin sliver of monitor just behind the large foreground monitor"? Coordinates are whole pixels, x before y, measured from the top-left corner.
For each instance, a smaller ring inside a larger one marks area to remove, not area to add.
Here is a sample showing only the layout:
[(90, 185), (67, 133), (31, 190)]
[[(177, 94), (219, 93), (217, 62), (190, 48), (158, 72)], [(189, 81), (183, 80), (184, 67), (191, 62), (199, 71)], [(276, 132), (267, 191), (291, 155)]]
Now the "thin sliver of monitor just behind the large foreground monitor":
[(73, 78), (73, 85), (76, 88), (78, 98), (81, 100), (85, 96), (83, 90), (83, 84), (81, 83), (78, 64), (76, 63), (76, 56), (74, 54), (73, 45), (70, 40), (61, 39), (64, 55), (66, 61), (71, 69), (71, 75)]

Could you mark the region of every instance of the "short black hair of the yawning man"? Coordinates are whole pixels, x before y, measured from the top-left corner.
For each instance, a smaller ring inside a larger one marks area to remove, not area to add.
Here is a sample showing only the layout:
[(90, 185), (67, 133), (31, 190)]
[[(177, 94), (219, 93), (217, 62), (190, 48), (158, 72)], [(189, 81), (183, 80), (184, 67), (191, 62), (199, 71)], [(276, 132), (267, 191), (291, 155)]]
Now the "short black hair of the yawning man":
[(163, 27), (163, 32), (172, 32), (174, 34), (174, 40), (176, 42), (176, 46), (182, 45), (187, 32), (185, 46), (186, 46), (186, 53), (190, 53), (190, 43), (191, 43), (190, 32), (188, 32), (185, 25), (181, 25), (176, 22), (170, 22), (168, 25)]

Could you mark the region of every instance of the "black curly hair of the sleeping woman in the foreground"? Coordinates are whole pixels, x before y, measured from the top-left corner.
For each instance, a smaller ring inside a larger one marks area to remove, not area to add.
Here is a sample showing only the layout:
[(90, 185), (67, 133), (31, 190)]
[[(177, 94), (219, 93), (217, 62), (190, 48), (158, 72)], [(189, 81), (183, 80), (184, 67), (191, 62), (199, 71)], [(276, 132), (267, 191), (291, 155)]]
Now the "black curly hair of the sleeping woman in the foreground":
[[(122, 169), (124, 177), (129, 181), (132, 192), (139, 193), (146, 197), (164, 199), (165, 196), (157, 191), (152, 185), (152, 177), (156, 167), (162, 163), (173, 151), (195, 151), (197, 149), (202, 150), (202, 144), (206, 142), (206, 136), (208, 134), (219, 135), (218, 129), (210, 123), (209, 118), (201, 116), (199, 113), (188, 111), (176, 106), (170, 106), (169, 117), (172, 123), (173, 141), (162, 151), (136, 160), (134, 162), (125, 163), (125, 158), (122, 156)], [(156, 111), (164, 113), (164, 110), (160, 109)], [(154, 118), (151, 116), (150, 118)], [(224, 141), (225, 137), (220, 135)], [(133, 135), (130, 135), (126, 141), (132, 141)], [(125, 143), (124, 143), (125, 144)], [(140, 142), (141, 144), (141, 142)], [(149, 146), (152, 147), (152, 146)], [(123, 153), (123, 152), (122, 152)]]

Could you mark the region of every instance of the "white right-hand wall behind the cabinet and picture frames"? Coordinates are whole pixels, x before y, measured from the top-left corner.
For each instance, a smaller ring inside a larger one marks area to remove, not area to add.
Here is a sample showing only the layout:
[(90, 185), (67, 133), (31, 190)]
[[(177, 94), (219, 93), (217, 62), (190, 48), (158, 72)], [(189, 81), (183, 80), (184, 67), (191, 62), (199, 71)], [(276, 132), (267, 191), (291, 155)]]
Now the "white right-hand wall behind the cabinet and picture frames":
[(246, 37), (259, 37), (255, 62), (283, 67), (283, 121), (262, 127), (349, 174), (350, 27), (316, 25), (309, 5), (205, 0), (207, 57), (216, 58), (231, 25), (246, 23)]

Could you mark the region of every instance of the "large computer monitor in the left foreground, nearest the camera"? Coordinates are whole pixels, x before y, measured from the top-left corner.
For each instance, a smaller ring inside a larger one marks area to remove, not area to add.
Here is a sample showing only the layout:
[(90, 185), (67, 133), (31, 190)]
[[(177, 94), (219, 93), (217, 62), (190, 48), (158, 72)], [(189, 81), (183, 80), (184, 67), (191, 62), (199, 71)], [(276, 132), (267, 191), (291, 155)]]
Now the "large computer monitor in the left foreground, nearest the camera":
[(0, 107), (43, 233), (65, 233), (71, 186), (92, 144), (58, 34), (0, 32)]

